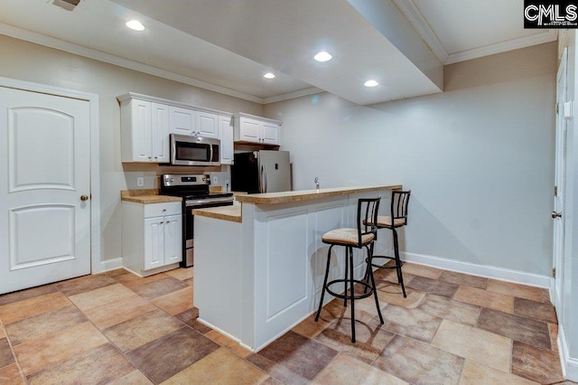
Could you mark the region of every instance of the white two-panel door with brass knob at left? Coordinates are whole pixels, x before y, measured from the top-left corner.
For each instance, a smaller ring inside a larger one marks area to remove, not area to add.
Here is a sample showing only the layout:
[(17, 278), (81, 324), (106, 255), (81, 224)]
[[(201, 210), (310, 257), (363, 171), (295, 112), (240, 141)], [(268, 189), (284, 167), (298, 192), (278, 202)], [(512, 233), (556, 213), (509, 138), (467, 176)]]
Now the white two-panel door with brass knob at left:
[(0, 294), (90, 274), (89, 101), (0, 87)]

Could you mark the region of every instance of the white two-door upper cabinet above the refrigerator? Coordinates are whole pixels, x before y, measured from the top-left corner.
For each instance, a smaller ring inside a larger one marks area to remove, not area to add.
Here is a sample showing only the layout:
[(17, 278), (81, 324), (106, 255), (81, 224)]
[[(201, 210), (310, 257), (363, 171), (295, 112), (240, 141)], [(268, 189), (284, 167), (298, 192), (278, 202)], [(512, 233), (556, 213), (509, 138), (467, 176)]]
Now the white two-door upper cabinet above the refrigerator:
[(281, 122), (248, 114), (235, 116), (235, 141), (261, 145), (281, 146)]

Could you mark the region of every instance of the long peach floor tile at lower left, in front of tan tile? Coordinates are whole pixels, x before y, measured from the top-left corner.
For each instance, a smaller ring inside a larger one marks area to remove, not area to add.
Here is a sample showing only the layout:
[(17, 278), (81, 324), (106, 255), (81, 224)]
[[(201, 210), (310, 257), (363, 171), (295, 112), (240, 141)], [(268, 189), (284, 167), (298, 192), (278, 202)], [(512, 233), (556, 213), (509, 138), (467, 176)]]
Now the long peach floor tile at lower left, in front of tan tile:
[(14, 352), (24, 375), (28, 376), (105, 343), (107, 338), (86, 322), (48, 338), (14, 346)]

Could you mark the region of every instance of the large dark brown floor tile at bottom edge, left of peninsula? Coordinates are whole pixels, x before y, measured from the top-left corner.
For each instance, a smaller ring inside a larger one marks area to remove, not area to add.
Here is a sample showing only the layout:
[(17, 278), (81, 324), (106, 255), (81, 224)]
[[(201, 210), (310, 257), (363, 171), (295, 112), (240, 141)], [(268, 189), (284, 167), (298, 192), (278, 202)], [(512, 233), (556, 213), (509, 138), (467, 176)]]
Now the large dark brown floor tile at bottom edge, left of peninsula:
[(217, 343), (189, 327), (182, 326), (181, 329), (146, 343), (126, 355), (149, 379), (160, 383), (217, 349)]

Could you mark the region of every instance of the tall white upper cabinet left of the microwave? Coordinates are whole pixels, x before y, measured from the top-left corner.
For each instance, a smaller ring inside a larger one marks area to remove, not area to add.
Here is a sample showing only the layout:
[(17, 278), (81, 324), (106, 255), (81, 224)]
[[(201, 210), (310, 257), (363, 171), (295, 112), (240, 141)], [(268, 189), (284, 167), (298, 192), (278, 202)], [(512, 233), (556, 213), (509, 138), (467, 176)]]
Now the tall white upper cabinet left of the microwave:
[(123, 162), (169, 162), (168, 106), (141, 99), (121, 100)]

